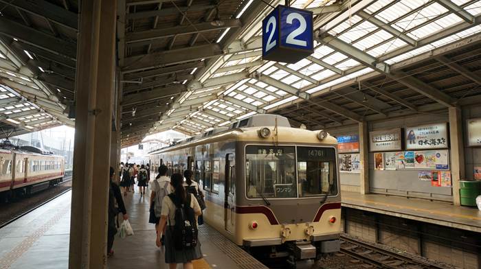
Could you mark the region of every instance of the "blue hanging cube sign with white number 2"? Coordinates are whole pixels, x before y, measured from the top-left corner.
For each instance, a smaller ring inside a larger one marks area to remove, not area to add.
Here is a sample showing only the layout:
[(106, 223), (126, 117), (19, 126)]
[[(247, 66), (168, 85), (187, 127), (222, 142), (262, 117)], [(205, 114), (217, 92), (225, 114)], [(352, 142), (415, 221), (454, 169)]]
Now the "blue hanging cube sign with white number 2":
[(262, 58), (295, 63), (313, 53), (313, 12), (278, 5), (262, 21)]

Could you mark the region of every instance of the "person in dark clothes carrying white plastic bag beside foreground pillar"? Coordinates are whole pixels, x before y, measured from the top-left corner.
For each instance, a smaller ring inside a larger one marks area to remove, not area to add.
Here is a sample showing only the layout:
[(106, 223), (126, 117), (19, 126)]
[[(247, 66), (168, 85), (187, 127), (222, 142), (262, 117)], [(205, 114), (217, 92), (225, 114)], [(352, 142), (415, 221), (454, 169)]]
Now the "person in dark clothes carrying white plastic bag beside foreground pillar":
[[(124, 200), (122, 199), (122, 194), (120, 193), (120, 187), (117, 183), (113, 182), (113, 175), (115, 170), (110, 167), (110, 184), (109, 184), (109, 223), (107, 226), (107, 257), (113, 255), (113, 239), (117, 233), (118, 220), (117, 215), (122, 212), (124, 220), (128, 220), (127, 211), (125, 209)], [(115, 206), (118, 205), (118, 207)]]

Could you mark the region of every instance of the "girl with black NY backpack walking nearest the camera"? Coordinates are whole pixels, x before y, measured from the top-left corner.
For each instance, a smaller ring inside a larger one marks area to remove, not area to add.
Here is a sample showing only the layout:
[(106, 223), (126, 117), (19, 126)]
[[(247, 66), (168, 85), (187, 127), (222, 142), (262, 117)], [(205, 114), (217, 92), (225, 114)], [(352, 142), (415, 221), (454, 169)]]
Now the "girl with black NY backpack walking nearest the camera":
[(192, 261), (201, 259), (201, 244), (197, 238), (197, 216), (201, 207), (193, 194), (188, 194), (183, 187), (183, 176), (172, 174), (170, 185), (172, 194), (162, 200), (162, 211), (157, 226), (157, 246), (162, 246), (161, 235), (165, 235), (166, 264), (170, 269), (183, 264), (184, 269), (193, 269)]

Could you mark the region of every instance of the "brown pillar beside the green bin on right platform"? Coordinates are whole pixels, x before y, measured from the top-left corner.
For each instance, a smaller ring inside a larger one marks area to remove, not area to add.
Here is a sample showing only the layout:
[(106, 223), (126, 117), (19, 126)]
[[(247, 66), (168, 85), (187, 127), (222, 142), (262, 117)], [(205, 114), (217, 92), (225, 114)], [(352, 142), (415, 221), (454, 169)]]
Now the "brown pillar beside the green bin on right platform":
[(465, 178), (465, 143), (462, 139), (461, 109), (449, 108), (449, 137), (451, 140), (451, 180), (453, 185), (453, 202), (460, 205), (459, 180)]

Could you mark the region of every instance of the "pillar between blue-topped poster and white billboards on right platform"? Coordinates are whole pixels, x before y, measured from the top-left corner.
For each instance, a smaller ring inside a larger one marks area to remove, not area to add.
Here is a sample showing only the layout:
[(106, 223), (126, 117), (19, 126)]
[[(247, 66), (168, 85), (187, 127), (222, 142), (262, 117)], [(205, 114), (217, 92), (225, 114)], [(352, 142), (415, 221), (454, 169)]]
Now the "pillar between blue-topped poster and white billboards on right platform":
[(369, 132), (368, 122), (359, 122), (359, 159), (361, 173), (359, 174), (359, 191), (369, 194)]

